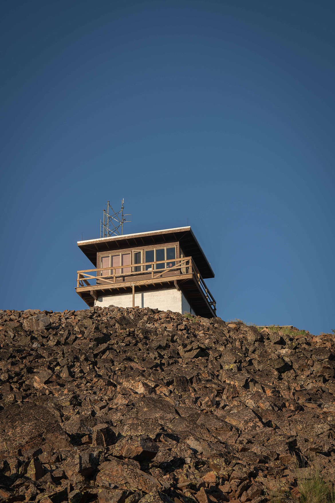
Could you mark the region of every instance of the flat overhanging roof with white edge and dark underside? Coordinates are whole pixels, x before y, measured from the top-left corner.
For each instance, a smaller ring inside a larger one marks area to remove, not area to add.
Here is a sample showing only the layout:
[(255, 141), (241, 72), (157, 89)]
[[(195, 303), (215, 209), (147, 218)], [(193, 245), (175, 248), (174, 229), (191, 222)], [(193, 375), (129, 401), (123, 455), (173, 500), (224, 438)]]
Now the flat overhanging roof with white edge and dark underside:
[(77, 241), (77, 245), (96, 267), (96, 254), (98, 251), (140, 247), (141, 245), (150, 246), (151, 244), (163, 244), (167, 242), (167, 240), (180, 242), (184, 254), (187, 257), (193, 258), (203, 278), (214, 278), (213, 270), (189, 226), (87, 239), (84, 241)]

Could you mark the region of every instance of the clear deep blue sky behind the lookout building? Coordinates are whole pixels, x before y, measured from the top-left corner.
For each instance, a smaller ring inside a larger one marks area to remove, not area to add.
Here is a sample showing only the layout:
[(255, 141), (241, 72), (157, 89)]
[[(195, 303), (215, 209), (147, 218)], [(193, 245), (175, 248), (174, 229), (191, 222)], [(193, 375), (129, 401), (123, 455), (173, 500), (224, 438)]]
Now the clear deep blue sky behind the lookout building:
[(80, 309), (76, 241), (190, 223), (223, 319), (335, 328), (333, 2), (2, 4), (0, 308)]

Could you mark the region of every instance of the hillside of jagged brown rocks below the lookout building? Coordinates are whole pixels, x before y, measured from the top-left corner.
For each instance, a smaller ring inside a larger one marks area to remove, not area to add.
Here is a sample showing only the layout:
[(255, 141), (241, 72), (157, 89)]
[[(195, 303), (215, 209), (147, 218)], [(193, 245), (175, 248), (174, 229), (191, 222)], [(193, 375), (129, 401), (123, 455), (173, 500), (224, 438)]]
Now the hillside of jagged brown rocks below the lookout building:
[[(334, 337), (152, 309), (0, 311), (0, 500), (270, 500), (335, 478)], [(299, 467), (298, 467), (298, 466)]]

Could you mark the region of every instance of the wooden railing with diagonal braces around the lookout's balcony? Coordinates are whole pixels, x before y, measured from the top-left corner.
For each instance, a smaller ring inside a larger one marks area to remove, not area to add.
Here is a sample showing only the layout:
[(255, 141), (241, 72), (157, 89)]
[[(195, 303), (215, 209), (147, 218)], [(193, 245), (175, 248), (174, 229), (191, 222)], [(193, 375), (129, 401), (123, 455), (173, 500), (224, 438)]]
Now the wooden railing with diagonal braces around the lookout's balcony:
[[(172, 264), (172, 266), (169, 266)], [(158, 267), (157, 267), (158, 266)], [(163, 267), (162, 267), (163, 266)], [(138, 270), (140, 269), (140, 270)], [(171, 273), (171, 274), (169, 274)], [(173, 274), (175, 273), (175, 274)], [(118, 284), (120, 282), (129, 282), (141, 280), (157, 280), (174, 275), (192, 275), (194, 281), (198, 283), (208, 304), (215, 311), (215, 300), (209, 292), (203, 281), (198, 268), (191, 257), (182, 259), (161, 260), (156, 262), (144, 262), (141, 264), (131, 264), (116, 267), (103, 267), (98, 269), (86, 269), (77, 271), (77, 288), (87, 288), (96, 285)], [(141, 278), (142, 276), (142, 278)]]

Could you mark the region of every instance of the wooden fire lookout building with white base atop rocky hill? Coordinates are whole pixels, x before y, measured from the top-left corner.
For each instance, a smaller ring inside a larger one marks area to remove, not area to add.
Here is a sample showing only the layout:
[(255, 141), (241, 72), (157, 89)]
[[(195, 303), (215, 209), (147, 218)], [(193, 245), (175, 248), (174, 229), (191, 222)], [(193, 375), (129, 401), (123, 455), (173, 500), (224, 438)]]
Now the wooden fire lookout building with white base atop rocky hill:
[(77, 272), (88, 306), (151, 307), (211, 318), (214, 273), (191, 227), (78, 241), (94, 269)]

